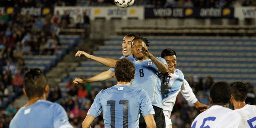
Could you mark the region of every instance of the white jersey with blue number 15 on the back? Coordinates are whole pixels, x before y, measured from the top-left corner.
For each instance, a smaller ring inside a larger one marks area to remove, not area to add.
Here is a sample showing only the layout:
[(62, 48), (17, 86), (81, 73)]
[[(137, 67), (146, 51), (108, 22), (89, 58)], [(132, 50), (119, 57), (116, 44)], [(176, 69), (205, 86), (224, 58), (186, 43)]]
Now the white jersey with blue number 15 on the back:
[(196, 116), (191, 128), (239, 128), (241, 116), (229, 108), (214, 105)]

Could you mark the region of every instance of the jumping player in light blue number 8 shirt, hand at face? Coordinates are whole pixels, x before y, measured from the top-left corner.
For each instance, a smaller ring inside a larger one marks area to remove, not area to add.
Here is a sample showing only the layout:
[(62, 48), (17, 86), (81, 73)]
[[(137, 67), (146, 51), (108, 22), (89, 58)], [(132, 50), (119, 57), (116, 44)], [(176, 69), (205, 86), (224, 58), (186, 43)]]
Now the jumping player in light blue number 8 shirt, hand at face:
[[(162, 111), (161, 77), (168, 73), (168, 65), (163, 58), (155, 57), (148, 51), (148, 39), (135, 37), (132, 40), (132, 54), (127, 57), (135, 67), (135, 77), (132, 86), (146, 90), (150, 96), (156, 115), (157, 128), (164, 128), (164, 113)], [(143, 118), (140, 118), (140, 128), (146, 128)]]

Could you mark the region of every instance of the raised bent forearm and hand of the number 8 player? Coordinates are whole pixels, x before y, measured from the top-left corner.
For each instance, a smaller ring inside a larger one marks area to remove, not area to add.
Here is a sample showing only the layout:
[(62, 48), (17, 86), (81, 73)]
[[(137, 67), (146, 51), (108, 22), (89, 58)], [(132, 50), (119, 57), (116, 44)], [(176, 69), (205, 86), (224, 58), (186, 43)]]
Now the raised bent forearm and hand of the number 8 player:
[(154, 64), (156, 64), (156, 67), (163, 73), (163, 74), (167, 74), (168, 73), (168, 65), (164, 64), (163, 62), (161, 62), (160, 60), (158, 60), (155, 56), (153, 56), (147, 48), (142, 47), (142, 53), (145, 56), (148, 56), (148, 58), (150, 58)]

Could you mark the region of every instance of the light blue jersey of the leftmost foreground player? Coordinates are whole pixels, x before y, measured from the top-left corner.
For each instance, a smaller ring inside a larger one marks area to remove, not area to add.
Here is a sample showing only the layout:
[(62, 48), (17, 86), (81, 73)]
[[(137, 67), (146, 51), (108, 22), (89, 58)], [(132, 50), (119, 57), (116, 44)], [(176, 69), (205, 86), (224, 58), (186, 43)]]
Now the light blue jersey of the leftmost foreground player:
[(38, 100), (18, 110), (9, 128), (73, 128), (60, 104)]

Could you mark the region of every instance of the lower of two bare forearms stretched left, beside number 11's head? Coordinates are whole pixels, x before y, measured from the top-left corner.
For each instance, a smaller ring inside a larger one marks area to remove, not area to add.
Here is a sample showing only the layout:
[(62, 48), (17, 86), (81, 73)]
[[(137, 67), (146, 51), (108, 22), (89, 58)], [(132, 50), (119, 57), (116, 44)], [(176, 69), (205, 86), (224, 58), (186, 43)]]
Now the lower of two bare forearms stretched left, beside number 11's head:
[(112, 78), (113, 72), (110, 70), (107, 70), (105, 72), (101, 72), (100, 74), (97, 74), (91, 78), (84, 79), (83, 83), (90, 83), (90, 82), (97, 82), (97, 81), (104, 81)]

